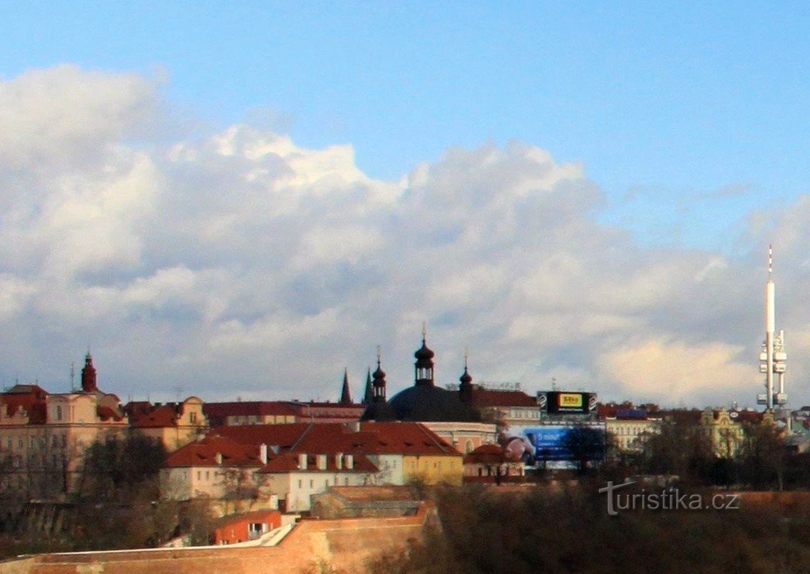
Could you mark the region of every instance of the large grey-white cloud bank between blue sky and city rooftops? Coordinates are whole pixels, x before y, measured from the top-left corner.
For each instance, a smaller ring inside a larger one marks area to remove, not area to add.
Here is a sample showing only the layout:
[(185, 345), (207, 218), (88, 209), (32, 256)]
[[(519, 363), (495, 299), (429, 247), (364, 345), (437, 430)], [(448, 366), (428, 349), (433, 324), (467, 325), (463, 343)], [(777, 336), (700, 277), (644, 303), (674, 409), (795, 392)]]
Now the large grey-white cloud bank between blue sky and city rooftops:
[[(3, 384), (66, 390), (90, 344), (122, 398), (336, 399), (344, 366), (360, 395), (380, 344), (393, 393), (426, 322), (442, 385), (467, 348), (477, 380), (530, 392), (552, 378), (663, 403), (758, 391), (763, 262), (599, 224), (582, 165), (488, 143), (381, 181), (351, 145), (251, 125), (167, 143), (171, 115), (136, 74), (0, 82)], [(808, 212), (803, 197), (753, 213), (740, 238), (757, 257), (773, 239), (782, 284), (810, 273)], [(800, 396), (810, 308), (783, 290)]]

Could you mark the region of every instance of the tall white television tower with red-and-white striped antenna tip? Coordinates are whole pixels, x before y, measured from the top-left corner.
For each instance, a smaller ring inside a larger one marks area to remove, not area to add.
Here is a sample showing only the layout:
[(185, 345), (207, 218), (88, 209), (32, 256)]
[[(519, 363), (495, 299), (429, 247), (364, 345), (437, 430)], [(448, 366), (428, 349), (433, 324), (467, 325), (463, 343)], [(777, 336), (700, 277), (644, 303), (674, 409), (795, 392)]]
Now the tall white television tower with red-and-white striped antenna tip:
[[(765, 394), (757, 395), (757, 403), (773, 411), (774, 404), (787, 403), (785, 394), (785, 331), (776, 331), (776, 287), (774, 285), (774, 249), (768, 246), (768, 282), (765, 283), (765, 342), (760, 352), (760, 373), (765, 373)], [(778, 376), (778, 392), (774, 392), (774, 374)]]

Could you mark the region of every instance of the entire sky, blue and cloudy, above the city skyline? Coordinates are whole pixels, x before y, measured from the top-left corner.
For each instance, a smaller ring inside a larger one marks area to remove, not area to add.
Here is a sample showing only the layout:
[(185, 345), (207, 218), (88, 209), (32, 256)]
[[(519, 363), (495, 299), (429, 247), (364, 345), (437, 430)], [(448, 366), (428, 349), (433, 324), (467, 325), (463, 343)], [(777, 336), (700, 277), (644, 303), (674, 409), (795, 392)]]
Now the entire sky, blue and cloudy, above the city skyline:
[(0, 385), (808, 403), (808, 10), (0, 1)]

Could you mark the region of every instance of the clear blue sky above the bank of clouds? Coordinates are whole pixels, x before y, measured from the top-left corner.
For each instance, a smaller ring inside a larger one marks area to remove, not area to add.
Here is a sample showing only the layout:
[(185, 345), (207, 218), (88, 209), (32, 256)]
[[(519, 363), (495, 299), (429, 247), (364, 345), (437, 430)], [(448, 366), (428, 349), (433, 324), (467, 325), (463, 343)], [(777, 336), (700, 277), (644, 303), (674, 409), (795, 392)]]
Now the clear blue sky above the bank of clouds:
[(800, 2), (5, 2), (3, 22), (6, 78), (164, 70), (198, 120), (349, 141), (376, 177), (449, 146), (543, 146), (658, 243), (730, 249), (748, 209), (808, 189)]

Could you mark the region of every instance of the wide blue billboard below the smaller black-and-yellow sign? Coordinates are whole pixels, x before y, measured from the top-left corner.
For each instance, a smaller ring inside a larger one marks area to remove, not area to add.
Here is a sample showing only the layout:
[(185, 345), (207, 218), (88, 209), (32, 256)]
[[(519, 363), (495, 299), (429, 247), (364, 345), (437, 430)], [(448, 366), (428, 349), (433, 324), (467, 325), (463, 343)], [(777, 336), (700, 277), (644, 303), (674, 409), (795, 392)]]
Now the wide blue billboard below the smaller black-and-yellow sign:
[(601, 460), (604, 456), (603, 423), (542, 424), (510, 427), (501, 434), (505, 453), (527, 466), (547, 462)]

